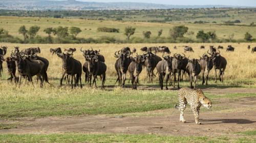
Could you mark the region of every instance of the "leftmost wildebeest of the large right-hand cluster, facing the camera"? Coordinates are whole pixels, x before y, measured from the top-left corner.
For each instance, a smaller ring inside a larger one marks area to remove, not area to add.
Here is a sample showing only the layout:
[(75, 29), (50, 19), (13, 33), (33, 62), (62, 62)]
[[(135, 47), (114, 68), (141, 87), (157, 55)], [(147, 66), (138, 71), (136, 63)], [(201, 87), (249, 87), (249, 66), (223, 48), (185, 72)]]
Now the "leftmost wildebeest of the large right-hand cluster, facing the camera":
[(115, 52), (115, 58), (118, 58), (115, 63), (115, 69), (118, 75), (116, 82), (119, 81), (119, 85), (123, 86), (126, 80), (126, 72), (132, 59), (130, 57), (130, 50), (121, 53), (120, 51), (121, 50)]

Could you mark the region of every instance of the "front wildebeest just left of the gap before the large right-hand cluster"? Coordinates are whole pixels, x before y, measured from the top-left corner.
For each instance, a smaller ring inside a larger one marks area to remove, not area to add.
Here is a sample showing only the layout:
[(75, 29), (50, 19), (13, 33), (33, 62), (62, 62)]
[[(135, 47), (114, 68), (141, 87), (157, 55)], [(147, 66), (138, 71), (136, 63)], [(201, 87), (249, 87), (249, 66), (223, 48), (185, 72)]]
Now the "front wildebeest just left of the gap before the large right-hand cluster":
[(95, 88), (97, 88), (96, 85), (96, 78), (98, 75), (102, 77), (101, 79), (101, 89), (104, 89), (104, 82), (106, 79), (106, 65), (103, 62), (100, 62), (98, 60), (98, 55), (87, 55), (86, 61), (88, 63), (88, 71), (90, 73), (90, 82), (89, 85), (92, 84), (92, 76), (93, 76), (93, 84), (95, 83)]

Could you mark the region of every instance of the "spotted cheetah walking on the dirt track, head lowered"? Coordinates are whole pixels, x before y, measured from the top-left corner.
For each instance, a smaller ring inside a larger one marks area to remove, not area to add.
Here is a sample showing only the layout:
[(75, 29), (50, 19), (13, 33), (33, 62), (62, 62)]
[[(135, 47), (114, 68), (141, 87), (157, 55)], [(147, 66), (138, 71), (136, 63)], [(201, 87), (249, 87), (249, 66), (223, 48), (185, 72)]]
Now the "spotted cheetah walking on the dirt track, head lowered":
[(183, 111), (186, 108), (186, 104), (188, 103), (191, 107), (191, 110), (195, 116), (196, 124), (200, 125), (199, 122), (199, 110), (201, 105), (205, 106), (206, 108), (211, 107), (211, 101), (207, 97), (204, 96), (203, 91), (200, 89), (193, 90), (189, 88), (181, 88), (178, 91), (179, 95), (179, 102), (180, 105), (175, 105), (175, 108), (180, 110), (180, 122), (186, 123), (183, 117)]

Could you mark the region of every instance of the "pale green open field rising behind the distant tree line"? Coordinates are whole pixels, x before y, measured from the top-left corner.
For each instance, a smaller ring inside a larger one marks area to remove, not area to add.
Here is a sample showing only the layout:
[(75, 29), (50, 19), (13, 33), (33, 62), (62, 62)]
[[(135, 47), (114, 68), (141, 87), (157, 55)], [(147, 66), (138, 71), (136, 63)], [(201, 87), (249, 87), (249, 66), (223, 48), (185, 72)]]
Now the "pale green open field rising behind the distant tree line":
[[(253, 18), (252, 18), (253, 19)], [(255, 20), (256, 21), (256, 20)], [(9, 31), (10, 35), (18, 36), (23, 39), (23, 36), (18, 34), (18, 28), (25, 25), (27, 28), (33, 25), (40, 26), (38, 35), (48, 36), (44, 33), (46, 27), (57, 26), (77, 26), (80, 27), (82, 32), (78, 37), (82, 38), (99, 38), (101, 36), (115, 37), (124, 40), (126, 37), (123, 34), (126, 26), (136, 27), (135, 37), (143, 38), (143, 31), (151, 31), (152, 37), (156, 37), (160, 29), (163, 29), (162, 36), (168, 37), (169, 30), (176, 25), (185, 25), (193, 31), (195, 34), (191, 37), (196, 39), (196, 34), (200, 30), (205, 32), (216, 31), (219, 38), (228, 39), (228, 36), (234, 34), (233, 39), (244, 39), (244, 34), (249, 32), (253, 38), (256, 37), (256, 28), (254, 26), (229, 26), (218, 24), (193, 24), (193, 23), (153, 23), (153, 22), (124, 22), (124, 21), (112, 21), (112, 20), (86, 20), (86, 19), (74, 19), (74, 18), (38, 18), (38, 17), (0, 17), (0, 28), (4, 28)], [(98, 32), (98, 27), (115, 27), (120, 29), (120, 33), (102, 33)], [(91, 30), (90, 30), (91, 29)], [(185, 35), (188, 37), (187, 35)], [(133, 36), (132, 36), (133, 37)]]

